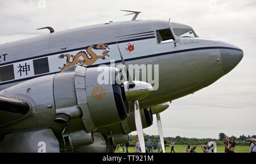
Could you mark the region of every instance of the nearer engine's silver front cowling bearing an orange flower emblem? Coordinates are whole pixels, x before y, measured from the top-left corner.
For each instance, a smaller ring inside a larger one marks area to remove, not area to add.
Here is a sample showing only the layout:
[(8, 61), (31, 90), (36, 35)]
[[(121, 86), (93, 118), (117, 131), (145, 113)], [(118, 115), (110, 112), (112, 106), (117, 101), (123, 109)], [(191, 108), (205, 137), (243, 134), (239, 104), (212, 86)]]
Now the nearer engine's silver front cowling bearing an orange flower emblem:
[[(82, 122), (87, 131), (121, 122), (129, 115), (124, 89), (115, 84), (118, 73), (113, 67), (76, 68), (77, 104), (82, 110)], [(99, 80), (108, 84), (99, 85)]]

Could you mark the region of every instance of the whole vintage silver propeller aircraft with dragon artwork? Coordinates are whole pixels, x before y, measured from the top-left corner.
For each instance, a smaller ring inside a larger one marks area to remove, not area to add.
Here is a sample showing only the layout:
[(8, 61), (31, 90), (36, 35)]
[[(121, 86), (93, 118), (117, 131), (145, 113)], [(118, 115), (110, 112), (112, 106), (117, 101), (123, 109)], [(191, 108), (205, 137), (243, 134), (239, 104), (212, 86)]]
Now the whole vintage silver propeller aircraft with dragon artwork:
[[(243, 58), (237, 46), (188, 25), (133, 13), (131, 21), (46, 27), (48, 34), (0, 45), (0, 152), (113, 152), (133, 131), (146, 152), (143, 128), (153, 114), (164, 145), (160, 113)], [(134, 64), (156, 66), (154, 83)], [(99, 83), (102, 71), (109, 83)]]

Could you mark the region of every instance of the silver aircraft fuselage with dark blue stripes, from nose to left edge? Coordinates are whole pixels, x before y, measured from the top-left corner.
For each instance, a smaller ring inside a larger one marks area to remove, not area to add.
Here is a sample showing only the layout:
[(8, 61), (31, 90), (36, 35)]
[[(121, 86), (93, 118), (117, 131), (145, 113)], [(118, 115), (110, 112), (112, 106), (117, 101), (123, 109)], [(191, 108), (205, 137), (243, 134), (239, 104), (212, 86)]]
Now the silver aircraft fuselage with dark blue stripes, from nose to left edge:
[[(159, 20), (107, 23), (2, 44), (0, 55), (7, 55), (5, 61), (1, 59), (0, 67), (13, 64), (15, 79), (0, 83), (0, 90), (20, 81), (60, 72), (59, 67), (65, 63), (65, 59), (58, 58), (60, 54), (76, 55), (90, 45), (109, 47), (109, 57), (97, 59), (92, 67), (110, 64), (113, 60), (121, 63), (118, 42), (127, 64), (159, 64), (159, 88), (140, 102), (141, 108), (146, 108), (207, 87), (232, 70), (243, 57), (237, 46), (208, 38), (177, 38), (173, 33), (175, 41), (158, 44), (156, 30), (172, 30), (172, 25)], [(127, 44), (133, 44), (134, 50), (127, 51)], [(95, 52), (102, 54), (101, 50)], [(15, 67), (44, 57), (48, 58), (49, 72), (19, 77)]]

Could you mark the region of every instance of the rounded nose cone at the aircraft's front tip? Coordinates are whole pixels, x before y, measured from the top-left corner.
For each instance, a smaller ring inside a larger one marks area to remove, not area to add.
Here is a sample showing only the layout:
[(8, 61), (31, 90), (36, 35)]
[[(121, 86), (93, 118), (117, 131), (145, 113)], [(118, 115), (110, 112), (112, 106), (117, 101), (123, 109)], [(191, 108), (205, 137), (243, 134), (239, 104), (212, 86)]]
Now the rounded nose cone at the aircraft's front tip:
[(243, 51), (240, 49), (220, 49), (224, 74), (228, 74), (243, 58)]

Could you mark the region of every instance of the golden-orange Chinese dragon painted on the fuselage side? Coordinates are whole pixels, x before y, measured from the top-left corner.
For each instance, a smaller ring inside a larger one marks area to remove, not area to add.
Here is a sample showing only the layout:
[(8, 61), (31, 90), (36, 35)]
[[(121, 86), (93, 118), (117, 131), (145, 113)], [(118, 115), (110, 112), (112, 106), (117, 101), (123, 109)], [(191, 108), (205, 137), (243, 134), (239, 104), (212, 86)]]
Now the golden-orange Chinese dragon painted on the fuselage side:
[[(80, 66), (92, 66), (94, 62), (97, 61), (97, 59), (105, 59), (105, 57), (109, 57), (109, 51), (106, 50), (108, 48), (107, 44), (97, 44), (97, 45), (90, 45), (85, 48), (85, 51), (80, 51), (76, 55), (70, 55), (70, 54), (61, 54), (59, 55), (59, 59), (63, 59), (64, 57), (67, 57), (67, 61), (65, 64), (63, 64), (63, 67), (59, 67), (60, 71), (64, 71), (65, 68), (80, 65)], [(109, 48), (108, 48), (109, 49)], [(105, 50), (102, 55), (97, 55), (94, 53), (93, 50)], [(89, 57), (90, 58), (89, 58)], [(72, 59), (71, 59), (72, 58)]]

